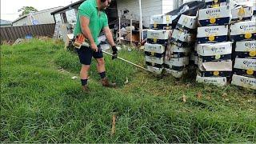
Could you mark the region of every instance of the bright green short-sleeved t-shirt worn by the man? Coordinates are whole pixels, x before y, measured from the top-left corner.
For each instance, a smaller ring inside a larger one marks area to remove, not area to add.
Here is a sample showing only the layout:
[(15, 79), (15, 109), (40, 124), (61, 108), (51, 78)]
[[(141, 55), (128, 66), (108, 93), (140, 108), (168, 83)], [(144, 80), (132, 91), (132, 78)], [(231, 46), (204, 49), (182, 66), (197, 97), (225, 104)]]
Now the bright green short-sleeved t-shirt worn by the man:
[(90, 19), (89, 28), (94, 42), (98, 45), (98, 34), (101, 30), (108, 26), (108, 20), (106, 13), (103, 11), (98, 11), (98, 6), (96, 0), (86, 0), (78, 7), (78, 18), (77, 24), (74, 29), (74, 36), (77, 34), (82, 34), (80, 16), (85, 16)]

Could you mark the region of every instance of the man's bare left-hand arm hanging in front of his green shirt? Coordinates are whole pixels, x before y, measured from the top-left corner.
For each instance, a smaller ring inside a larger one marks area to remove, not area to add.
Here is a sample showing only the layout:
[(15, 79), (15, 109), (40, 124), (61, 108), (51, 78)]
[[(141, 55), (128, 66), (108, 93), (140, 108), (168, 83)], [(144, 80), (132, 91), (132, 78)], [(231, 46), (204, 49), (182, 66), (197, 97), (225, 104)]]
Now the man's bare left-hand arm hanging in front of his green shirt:
[(84, 34), (86, 36), (86, 38), (88, 38), (88, 40), (90, 41), (91, 48), (97, 52), (98, 47), (96, 46), (96, 44), (94, 42), (94, 38), (91, 35), (90, 29), (89, 29), (90, 19), (86, 18), (84, 16), (81, 16), (80, 23), (81, 23), (82, 34)]

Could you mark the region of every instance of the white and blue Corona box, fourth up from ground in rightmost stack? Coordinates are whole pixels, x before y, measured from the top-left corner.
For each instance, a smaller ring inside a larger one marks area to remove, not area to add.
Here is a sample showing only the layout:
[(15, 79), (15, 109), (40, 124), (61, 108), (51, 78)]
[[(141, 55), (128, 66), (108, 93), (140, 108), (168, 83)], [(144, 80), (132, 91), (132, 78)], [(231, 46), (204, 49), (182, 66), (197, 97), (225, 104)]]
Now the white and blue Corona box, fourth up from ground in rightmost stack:
[(256, 39), (256, 21), (237, 22), (230, 26), (231, 40), (238, 42)]

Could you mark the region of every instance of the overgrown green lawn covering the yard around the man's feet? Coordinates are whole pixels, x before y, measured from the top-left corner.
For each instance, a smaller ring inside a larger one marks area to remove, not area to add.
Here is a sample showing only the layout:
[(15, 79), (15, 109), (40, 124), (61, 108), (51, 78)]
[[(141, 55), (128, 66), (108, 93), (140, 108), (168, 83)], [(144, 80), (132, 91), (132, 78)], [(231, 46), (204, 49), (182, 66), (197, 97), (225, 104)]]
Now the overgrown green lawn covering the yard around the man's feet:
[[(52, 40), (1, 46), (1, 142), (256, 142), (254, 90), (159, 79), (105, 56), (118, 88), (101, 86), (93, 62), (84, 94), (71, 79), (78, 57), (62, 47)], [(138, 50), (119, 55), (143, 64)]]

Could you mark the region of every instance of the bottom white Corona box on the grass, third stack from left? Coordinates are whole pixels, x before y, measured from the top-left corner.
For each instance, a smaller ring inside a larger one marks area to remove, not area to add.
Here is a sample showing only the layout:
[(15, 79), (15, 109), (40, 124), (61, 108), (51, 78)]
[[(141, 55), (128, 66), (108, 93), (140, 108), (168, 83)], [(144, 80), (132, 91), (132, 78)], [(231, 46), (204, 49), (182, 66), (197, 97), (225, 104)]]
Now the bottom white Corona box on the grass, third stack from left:
[(226, 77), (200, 77), (197, 75), (196, 81), (199, 83), (210, 83), (216, 86), (226, 85)]

